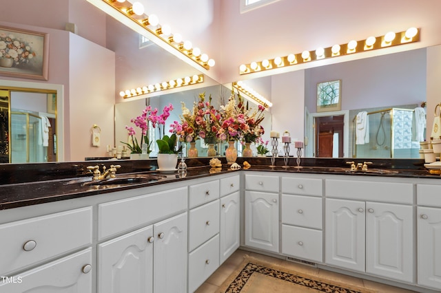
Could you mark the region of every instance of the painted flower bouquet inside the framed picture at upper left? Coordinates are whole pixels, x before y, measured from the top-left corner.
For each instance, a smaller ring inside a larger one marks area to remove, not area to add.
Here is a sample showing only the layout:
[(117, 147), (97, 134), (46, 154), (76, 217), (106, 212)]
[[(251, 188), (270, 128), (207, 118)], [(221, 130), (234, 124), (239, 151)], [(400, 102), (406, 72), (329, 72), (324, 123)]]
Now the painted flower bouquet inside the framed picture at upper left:
[(0, 33), (0, 58), (12, 58), (16, 65), (29, 63), (35, 57), (30, 45), (13, 34)]

